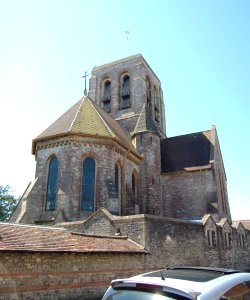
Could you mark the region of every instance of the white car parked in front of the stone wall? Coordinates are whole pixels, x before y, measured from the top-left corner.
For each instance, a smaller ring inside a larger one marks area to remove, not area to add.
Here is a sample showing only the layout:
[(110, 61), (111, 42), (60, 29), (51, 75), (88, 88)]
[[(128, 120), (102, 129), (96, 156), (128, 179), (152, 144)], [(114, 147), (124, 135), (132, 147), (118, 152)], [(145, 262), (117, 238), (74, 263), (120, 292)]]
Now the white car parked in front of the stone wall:
[(102, 300), (250, 300), (250, 273), (238, 270), (171, 267), (116, 279)]

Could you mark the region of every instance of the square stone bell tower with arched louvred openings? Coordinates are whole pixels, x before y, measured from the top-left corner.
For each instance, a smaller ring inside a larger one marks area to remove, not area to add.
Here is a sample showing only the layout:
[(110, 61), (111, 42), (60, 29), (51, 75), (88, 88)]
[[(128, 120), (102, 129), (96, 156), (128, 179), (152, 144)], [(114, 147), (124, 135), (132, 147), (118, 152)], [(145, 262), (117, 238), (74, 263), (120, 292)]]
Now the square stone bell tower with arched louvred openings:
[(131, 134), (145, 105), (162, 137), (166, 136), (161, 83), (141, 54), (94, 67), (89, 98)]

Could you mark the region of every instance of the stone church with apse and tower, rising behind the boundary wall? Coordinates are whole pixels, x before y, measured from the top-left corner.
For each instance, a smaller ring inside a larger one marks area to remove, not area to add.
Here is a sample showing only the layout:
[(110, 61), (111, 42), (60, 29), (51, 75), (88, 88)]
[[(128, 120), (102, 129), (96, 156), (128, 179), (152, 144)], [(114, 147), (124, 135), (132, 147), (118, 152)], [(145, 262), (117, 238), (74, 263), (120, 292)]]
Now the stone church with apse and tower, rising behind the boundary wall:
[(89, 94), (32, 143), (35, 180), (11, 221), (150, 214), (231, 220), (215, 127), (166, 137), (161, 83), (141, 54), (95, 67)]

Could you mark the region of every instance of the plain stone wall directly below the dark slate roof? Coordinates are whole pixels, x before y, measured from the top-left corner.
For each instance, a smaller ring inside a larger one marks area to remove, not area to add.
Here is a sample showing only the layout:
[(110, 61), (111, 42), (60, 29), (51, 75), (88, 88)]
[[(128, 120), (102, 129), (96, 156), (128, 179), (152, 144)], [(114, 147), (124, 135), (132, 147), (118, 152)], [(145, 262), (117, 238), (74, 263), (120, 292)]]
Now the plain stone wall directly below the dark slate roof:
[(216, 201), (214, 174), (211, 169), (162, 175), (164, 216), (199, 218)]

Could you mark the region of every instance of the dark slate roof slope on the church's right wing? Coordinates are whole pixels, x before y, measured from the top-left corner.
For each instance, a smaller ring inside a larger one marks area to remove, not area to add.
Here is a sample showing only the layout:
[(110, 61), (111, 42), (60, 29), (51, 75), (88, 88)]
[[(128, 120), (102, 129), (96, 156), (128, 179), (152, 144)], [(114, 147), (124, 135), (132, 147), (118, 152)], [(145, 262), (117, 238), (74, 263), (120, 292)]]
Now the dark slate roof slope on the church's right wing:
[(187, 168), (208, 166), (213, 157), (210, 133), (209, 130), (162, 139), (162, 172), (179, 172)]

